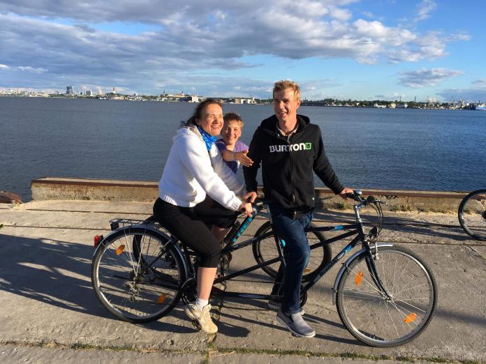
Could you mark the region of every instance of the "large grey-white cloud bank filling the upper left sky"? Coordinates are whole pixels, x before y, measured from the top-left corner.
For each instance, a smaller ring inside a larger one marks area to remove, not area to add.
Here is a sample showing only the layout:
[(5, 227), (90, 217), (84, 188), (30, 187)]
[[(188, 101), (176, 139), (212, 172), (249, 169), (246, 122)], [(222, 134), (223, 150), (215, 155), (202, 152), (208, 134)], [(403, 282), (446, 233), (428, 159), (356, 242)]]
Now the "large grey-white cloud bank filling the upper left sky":
[[(419, 61), (445, 56), (447, 43), (467, 37), (356, 19), (355, 2), (0, 0), (0, 63), (30, 67), (0, 86), (117, 84), (155, 93), (154, 85), (188, 73), (259, 67), (251, 56)], [(150, 26), (127, 34), (105, 24)]]

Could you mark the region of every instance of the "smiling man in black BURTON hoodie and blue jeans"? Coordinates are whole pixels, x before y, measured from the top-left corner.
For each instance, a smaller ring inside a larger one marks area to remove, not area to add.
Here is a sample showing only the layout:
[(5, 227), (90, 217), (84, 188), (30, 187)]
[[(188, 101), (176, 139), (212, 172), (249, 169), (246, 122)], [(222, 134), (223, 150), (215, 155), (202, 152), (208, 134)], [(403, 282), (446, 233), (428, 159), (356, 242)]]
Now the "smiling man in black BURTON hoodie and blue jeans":
[[(307, 116), (297, 115), (299, 86), (288, 80), (276, 82), (273, 98), (275, 114), (262, 121), (253, 134), (247, 154), (253, 165), (244, 167), (244, 179), (246, 190), (256, 191), (256, 174), (260, 164), (263, 166), (263, 192), (269, 200), (274, 229), (285, 241), (283, 301), (269, 301), (269, 307), (279, 308), (277, 320), (294, 335), (312, 338), (316, 333), (300, 314), (302, 273), (310, 255), (304, 229), (314, 210), (312, 172), (343, 198), (353, 190), (344, 188), (334, 174), (325, 156), (321, 129), (311, 124)], [(272, 294), (277, 294), (278, 289), (276, 283)]]

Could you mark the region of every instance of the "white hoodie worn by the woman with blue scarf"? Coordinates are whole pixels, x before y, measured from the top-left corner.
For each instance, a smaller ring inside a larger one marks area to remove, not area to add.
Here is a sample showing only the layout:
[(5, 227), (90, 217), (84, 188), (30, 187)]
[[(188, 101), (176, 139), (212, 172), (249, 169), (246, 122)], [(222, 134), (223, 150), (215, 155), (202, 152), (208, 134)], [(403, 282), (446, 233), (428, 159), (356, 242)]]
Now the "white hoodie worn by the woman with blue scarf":
[(216, 146), (213, 144), (208, 153), (196, 126), (180, 128), (172, 141), (159, 181), (159, 197), (169, 204), (192, 207), (204, 201), (207, 194), (237, 211), (242, 201), (236, 194), (244, 195), (246, 190)]

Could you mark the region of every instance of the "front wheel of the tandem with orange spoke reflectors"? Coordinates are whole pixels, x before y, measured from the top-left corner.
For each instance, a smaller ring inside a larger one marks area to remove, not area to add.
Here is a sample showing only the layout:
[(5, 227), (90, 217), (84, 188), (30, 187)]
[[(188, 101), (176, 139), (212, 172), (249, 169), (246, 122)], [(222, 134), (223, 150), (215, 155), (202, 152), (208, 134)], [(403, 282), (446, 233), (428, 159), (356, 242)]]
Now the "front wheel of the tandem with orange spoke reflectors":
[(371, 277), (368, 259), (365, 253), (358, 255), (341, 276), (336, 302), (339, 317), (364, 344), (405, 344), (420, 335), (432, 319), (437, 301), (434, 275), (411, 250), (378, 247), (374, 264), (387, 296)]

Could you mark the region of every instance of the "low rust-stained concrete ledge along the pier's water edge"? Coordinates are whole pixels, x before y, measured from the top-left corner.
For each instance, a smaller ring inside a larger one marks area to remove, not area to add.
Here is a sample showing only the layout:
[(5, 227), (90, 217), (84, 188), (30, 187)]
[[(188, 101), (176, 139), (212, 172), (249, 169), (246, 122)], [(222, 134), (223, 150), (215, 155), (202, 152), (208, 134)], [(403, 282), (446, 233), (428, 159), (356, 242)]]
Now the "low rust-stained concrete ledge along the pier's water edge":
[[(32, 199), (75, 199), (102, 201), (152, 202), (159, 195), (159, 184), (150, 181), (116, 181), (108, 179), (68, 179), (45, 177), (31, 181)], [(386, 200), (390, 211), (453, 212), (468, 192), (369, 190), (363, 195), (374, 195)], [(328, 188), (316, 188), (316, 207), (346, 209), (352, 201), (344, 201)]]

